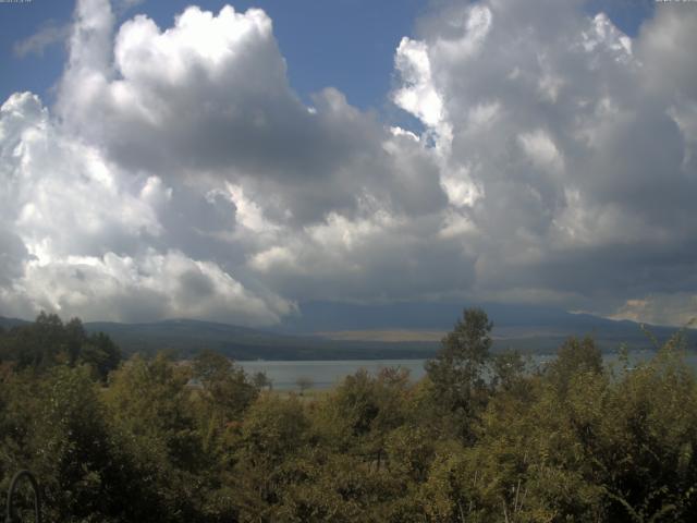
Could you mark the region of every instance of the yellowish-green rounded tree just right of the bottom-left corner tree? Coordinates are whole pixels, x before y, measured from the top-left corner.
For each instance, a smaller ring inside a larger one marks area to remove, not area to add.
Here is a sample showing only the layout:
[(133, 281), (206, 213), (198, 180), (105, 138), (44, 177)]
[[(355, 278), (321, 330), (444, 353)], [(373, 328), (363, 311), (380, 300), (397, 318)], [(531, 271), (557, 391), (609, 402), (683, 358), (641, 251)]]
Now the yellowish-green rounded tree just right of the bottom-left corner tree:
[(210, 461), (195, 421), (191, 368), (163, 353), (130, 358), (111, 375), (101, 398), (109, 430), (126, 461), (138, 471), (138, 510), (157, 518), (125, 521), (201, 521), (201, 479)]

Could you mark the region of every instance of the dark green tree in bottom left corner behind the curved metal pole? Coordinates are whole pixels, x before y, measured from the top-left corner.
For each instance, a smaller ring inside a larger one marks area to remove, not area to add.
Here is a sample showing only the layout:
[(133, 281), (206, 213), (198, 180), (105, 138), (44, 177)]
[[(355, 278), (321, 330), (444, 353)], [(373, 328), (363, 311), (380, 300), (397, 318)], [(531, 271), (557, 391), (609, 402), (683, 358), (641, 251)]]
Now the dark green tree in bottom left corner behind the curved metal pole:
[(41, 485), (44, 521), (162, 521), (133, 512), (142, 475), (114, 443), (87, 366), (27, 369), (0, 392), (3, 490), (10, 474), (28, 469)]

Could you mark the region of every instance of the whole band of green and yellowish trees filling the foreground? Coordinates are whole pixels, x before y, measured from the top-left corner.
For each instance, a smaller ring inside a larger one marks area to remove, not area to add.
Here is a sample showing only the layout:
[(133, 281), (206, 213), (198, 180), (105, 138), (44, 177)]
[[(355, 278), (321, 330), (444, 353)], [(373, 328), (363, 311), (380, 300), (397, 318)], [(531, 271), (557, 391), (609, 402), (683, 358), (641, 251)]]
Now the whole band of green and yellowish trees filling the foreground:
[(697, 521), (681, 332), (641, 364), (571, 338), (534, 367), (491, 331), (468, 308), (424, 379), (299, 394), (41, 314), (0, 330), (0, 488), (29, 470), (57, 523)]

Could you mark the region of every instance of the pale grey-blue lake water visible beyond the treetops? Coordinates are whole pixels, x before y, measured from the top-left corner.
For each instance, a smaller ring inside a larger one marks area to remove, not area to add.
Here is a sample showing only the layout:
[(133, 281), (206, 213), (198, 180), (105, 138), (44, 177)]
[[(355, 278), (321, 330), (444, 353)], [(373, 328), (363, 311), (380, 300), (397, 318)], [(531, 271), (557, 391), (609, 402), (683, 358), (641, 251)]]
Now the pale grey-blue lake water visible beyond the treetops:
[[(652, 351), (637, 351), (629, 353), (632, 364), (650, 360), (656, 355)], [(545, 365), (554, 360), (552, 354), (535, 354), (533, 364)], [(608, 365), (616, 364), (616, 354), (604, 354)], [(686, 363), (697, 368), (697, 354), (690, 353), (685, 357)], [(298, 378), (308, 378), (313, 381), (313, 388), (329, 389), (343, 380), (346, 376), (355, 374), (359, 368), (365, 368), (370, 374), (377, 374), (381, 368), (401, 367), (409, 370), (412, 379), (418, 380), (426, 374), (424, 370), (426, 360), (348, 360), (348, 361), (307, 361), (307, 362), (273, 362), (252, 361), (236, 362), (247, 374), (258, 372), (266, 373), (271, 379), (276, 390), (297, 389)]]

